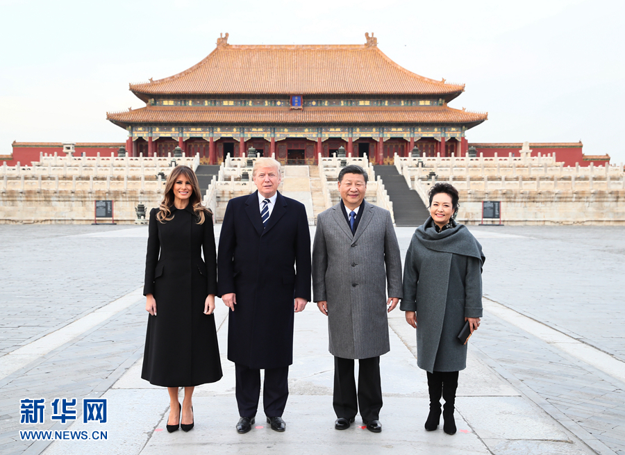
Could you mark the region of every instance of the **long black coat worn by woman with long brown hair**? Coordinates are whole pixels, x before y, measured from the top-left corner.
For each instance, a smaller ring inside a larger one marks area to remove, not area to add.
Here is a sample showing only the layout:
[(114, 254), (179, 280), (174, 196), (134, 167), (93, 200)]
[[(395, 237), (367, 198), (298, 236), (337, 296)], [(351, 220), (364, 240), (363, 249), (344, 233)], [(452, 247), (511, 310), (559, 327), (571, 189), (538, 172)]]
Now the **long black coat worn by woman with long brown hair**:
[(199, 386), (222, 377), (215, 316), (203, 313), (206, 296), (217, 294), (213, 220), (197, 224), (190, 205), (171, 210), (165, 223), (156, 208), (150, 212), (143, 294), (154, 295), (156, 316), (148, 316), (141, 377), (156, 386)]

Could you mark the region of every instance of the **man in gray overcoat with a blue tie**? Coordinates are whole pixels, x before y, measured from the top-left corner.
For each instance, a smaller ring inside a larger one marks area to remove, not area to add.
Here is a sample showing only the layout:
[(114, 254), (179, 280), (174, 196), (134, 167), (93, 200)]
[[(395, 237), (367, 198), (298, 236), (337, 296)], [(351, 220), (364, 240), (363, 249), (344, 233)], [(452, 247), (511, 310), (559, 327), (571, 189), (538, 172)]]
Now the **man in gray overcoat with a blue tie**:
[[(365, 201), (365, 170), (344, 167), (338, 189), (340, 203), (317, 217), (313, 301), (328, 316), (335, 429), (349, 428), (360, 408), (367, 429), (379, 433), (380, 356), (390, 351), (386, 313), (402, 297), (401, 256), (389, 211)], [(358, 390), (353, 375), (356, 358)]]

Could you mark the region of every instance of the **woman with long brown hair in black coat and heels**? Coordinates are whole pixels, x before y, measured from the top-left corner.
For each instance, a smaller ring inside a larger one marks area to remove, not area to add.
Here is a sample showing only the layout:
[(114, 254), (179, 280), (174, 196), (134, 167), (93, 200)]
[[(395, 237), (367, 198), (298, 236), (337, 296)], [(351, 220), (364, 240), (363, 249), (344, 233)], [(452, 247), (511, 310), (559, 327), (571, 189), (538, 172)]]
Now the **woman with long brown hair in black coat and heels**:
[[(141, 377), (167, 387), (170, 433), (178, 425), (184, 431), (193, 428), (194, 387), (222, 377), (213, 315), (217, 293), (213, 213), (202, 206), (200, 194), (193, 170), (176, 166), (167, 178), (160, 207), (150, 212), (143, 290), (150, 315)], [(182, 406), (179, 387), (185, 388)]]

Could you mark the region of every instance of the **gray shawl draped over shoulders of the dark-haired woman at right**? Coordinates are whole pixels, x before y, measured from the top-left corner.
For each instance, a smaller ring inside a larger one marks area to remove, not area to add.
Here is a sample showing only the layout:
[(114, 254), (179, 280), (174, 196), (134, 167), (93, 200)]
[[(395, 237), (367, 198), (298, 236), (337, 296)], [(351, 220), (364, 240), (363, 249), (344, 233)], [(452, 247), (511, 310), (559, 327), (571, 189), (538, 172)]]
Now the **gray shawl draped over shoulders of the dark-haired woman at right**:
[(478, 258), (483, 267), (486, 258), (482, 253), (480, 242), (477, 241), (464, 224), (456, 223), (456, 220), (453, 220), (453, 218), (451, 219), (451, 224), (453, 227), (436, 232), (434, 220), (432, 220), (432, 217), (428, 217), (426, 222), (415, 231), (415, 237), (427, 249)]

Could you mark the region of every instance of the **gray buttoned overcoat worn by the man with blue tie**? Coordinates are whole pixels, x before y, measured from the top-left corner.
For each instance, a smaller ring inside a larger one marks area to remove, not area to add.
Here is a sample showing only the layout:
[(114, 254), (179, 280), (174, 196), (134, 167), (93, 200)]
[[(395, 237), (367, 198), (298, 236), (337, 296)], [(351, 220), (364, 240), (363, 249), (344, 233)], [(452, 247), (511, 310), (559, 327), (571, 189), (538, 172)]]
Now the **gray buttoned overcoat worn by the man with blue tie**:
[(337, 204), (317, 217), (313, 301), (328, 302), (330, 352), (371, 358), (390, 351), (386, 292), (401, 298), (401, 255), (388, 210), (363, 201), (352, 234)]

